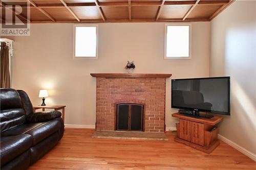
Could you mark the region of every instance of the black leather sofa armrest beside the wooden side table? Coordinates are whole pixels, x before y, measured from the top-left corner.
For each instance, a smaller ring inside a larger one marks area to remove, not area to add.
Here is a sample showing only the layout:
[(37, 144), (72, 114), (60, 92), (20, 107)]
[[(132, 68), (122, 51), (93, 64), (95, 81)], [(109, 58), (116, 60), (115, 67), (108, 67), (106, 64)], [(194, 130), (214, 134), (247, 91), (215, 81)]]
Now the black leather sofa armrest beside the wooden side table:
[(55, 110), (36, 112), (27, 116), (27, 122), (47, 122), (58, 117), (61, 117), (61, 112)]

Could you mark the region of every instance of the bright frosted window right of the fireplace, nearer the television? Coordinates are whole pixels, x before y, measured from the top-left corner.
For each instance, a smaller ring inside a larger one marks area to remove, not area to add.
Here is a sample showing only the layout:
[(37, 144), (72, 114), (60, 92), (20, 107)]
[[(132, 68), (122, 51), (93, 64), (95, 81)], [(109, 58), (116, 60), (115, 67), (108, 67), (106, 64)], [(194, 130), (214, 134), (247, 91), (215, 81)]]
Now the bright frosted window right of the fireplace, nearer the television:
[(190, 57), (190, 26), (167, 26), (165, 34), (165, 58)]

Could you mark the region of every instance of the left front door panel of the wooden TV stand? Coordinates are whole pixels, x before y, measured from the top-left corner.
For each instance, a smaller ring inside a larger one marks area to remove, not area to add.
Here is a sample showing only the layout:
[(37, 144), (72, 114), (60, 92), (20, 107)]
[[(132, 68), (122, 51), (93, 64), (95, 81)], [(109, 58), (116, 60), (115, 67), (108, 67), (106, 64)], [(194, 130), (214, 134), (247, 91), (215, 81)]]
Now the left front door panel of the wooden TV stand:
[(191, 136), (190, 136), (190, 121), (189, 120), (184, 120), (180, 119), (180, 138), (190, 141)]

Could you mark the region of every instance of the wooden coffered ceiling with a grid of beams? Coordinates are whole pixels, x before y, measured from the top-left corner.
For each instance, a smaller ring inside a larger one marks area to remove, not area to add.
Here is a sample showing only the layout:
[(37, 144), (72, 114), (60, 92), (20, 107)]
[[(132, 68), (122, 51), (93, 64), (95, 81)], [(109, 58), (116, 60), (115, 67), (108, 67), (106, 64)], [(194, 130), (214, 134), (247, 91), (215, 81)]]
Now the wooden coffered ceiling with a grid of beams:
[[(20, 5), (18, 17), (32, 23), (45, 22), (184, 22), (210, 21), (233, 0), (2, 0), (2, 21), (8, 5)], [(29, 3), (29, 6), (27, 6)]]

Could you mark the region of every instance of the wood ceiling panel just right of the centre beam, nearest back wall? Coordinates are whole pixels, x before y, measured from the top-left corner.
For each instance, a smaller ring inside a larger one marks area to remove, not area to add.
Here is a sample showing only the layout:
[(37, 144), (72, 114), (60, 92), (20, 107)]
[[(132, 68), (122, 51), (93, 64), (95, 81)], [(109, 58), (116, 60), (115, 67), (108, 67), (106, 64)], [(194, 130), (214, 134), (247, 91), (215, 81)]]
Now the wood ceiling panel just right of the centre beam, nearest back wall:
[(158, 9), (158, 6), (132, 7), (132, 19), (155, 19)]

